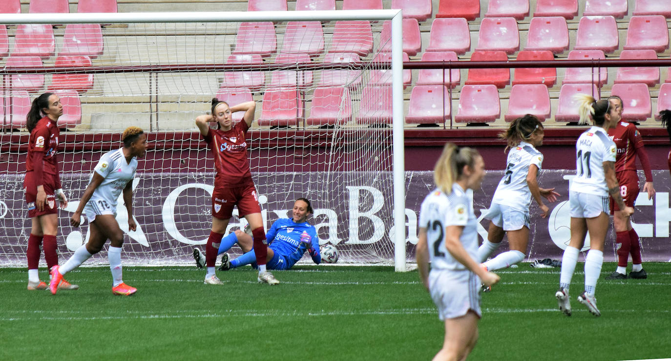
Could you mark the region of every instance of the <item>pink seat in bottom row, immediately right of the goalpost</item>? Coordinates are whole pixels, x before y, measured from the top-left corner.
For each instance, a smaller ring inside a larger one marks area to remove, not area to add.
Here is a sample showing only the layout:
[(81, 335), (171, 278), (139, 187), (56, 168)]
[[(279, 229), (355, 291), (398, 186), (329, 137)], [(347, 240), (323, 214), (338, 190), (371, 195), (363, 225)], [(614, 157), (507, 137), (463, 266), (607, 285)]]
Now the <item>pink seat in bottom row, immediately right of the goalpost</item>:
[(406, 123), (445, 123), (450, 119), (450, 93), (442, 85), (415, 85)]

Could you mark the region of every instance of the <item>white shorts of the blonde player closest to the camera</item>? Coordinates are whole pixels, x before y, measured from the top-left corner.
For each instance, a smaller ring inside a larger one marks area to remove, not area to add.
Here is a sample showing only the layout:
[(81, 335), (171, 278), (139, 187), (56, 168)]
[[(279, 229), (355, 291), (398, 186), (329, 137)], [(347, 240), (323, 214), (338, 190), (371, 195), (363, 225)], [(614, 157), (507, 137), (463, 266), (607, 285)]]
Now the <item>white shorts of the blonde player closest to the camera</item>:
[(480, 277), (470, 270), (436, 270), (429, 272), (429, 293), (438, 308), (441, 321), (480, 310)]

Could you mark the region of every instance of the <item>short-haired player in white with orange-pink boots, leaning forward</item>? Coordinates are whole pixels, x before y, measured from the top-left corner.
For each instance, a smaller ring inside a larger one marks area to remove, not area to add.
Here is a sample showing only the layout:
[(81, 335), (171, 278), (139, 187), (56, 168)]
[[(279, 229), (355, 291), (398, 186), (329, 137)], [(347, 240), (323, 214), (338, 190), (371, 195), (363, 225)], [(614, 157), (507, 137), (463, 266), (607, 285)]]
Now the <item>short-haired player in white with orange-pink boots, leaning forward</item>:
[(138, 291), (123, 282), (121, 272), (121, 246), (123, 231), (117, 223), (117, 199), (123, 193), (123, 203), (128, 212), (128, 229), (136, 230), (133, 219), (133, 178), (138, 168), (138, 157), (144, 156), (147, 150), (147, 136), (139, 127), (128, 127), (121, 135), (123, 148), (113, 150), (100, 158), (89, 179), (89, 186), (84, 191), (79, 207), (70, 218), (73, 227), (79, 227), (82, 211), (89, 219), (89, 242), (79, 247), (70, 259), (62, 266), (54, 266), (51, 270), (52, 280), (49, 289), (56, 294), (58, 280), (64, 274), (79, 267), (93, 254), (100, 252), (107, 240), (109, 269), (112, 272), (114, 295), (132, 295)]

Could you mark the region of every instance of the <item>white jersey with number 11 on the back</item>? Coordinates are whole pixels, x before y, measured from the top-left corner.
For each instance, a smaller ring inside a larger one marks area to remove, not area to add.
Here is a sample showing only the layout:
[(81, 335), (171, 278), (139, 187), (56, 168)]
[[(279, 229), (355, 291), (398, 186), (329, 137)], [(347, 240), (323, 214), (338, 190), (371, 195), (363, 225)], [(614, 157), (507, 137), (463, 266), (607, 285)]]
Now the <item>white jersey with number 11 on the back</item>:
[(603, 162), (615, 162), (617, 146), (602, 127), (590, 127), (576, 143), (576, 176), (572, 192), (608, 196)]

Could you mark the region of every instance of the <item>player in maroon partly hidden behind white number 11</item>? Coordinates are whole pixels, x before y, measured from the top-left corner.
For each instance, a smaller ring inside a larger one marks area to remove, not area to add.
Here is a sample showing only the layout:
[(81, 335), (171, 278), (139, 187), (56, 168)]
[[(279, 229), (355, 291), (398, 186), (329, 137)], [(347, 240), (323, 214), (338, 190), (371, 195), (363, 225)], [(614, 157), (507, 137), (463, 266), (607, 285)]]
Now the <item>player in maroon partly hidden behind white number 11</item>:
[[(619, 97), (610, 97), (611, 107), (622, 114), (622, 99)], [(650, 160), (648, 153), (643, 147), (641, 133), (636, 129), (634, 123), (620, 120), (617, 126), (608, 131), (608, 135), (613, 138), (617, 146), (617, 156), (615, 157), (615, 175), (620, 185), (620, 194), (625, 204), (633, 207), (636, 197), (638, 197), (638, 175), (636, 172), (636, 157), (638, 156), (643, 166), (643, 172), (646, 173), (646, 183), (643, 185), (643, 192), (648, 193), (648, 199), (655, 195), (655, 188), (652, 185), (652, 170), (650, 169)], [(615, 228), (615, 248), (617, 248), (617, 270), (606, 278), (625, 279), (627, 278), (627, 260), (631, 254), (631, 263), (633, 268), (629, 272), (629, 278), (647, 278), (646, 270), (643, 270), (641, 261), (641, 244), (635, 229), (631, 226), (631, 217), (625, 217), (619, 210), (617, 204), (611, 197), (611, 214), (613, 214), (613, 227)]]

